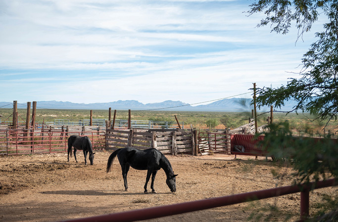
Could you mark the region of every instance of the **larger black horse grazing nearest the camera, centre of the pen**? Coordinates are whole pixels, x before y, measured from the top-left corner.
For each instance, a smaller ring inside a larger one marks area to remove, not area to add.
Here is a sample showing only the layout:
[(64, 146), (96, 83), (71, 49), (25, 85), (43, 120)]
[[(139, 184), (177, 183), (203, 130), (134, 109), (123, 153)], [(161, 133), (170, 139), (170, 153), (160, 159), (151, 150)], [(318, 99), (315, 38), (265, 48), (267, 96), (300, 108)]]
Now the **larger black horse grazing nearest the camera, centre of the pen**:
[(125, 147), (118, 149), (109, 156), (107, 163), (107, 173), (110, 171), (110, 168), (116, 156), (122, 168), (125, 191), (128, 191), (127, 174), (130, 167), (132, 167), (136, 170), (148, 171), (145, 180), (145, 193), (148, 193), (148, 191), (146, 190), (146, 186), (148, 184), (150, 175), (152, 175), (150, 185), (150, 188), (152, 190), (151, 192), (156, 193), (154, 189), (154, 180), (157, 171), (161, 168), (167, 175), (166, 183), (170, 188), (170, 191), (176, 192), (177, 175), (174, 175), (169, 160), (160, 151), (156, 149), (138, 150), (134, 147)]

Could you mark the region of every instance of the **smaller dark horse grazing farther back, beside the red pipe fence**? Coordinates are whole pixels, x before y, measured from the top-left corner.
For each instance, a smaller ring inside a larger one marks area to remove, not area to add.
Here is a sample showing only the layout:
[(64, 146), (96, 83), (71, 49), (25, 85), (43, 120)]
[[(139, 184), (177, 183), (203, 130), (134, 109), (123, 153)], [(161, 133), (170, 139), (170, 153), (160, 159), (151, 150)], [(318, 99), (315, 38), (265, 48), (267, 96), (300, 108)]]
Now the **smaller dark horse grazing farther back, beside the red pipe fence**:
[(93, 146), (91, 140), (88, 136), (79, 136), (79, 135), (71, 135), (68, 138), (68, 162), (69, 162), (69, 153), (70, 157), (72, 156), (72, 146), (74, 147), (74, 157), (76, 163), (78, 162), (76, 159), (76, 150), (83, 150), (83, 154), (85, 155), (85, 164), (87, 165), (87, 154), (89, 152), (89, 160), (91, 165), (94, 164), (94, 154)]

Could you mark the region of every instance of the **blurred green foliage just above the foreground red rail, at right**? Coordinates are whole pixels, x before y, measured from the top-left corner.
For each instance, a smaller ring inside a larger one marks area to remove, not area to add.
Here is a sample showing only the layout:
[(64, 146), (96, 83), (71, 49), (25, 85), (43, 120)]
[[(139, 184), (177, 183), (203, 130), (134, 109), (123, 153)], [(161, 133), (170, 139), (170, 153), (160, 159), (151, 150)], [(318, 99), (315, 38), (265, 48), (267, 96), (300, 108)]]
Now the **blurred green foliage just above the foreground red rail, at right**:
[(338, 144), (331, 138), (292, 136), (289, 123), (269, 125), (261, 145), (276, 158), (288, 159), (296, 170), (296, 182), (338, 178)]

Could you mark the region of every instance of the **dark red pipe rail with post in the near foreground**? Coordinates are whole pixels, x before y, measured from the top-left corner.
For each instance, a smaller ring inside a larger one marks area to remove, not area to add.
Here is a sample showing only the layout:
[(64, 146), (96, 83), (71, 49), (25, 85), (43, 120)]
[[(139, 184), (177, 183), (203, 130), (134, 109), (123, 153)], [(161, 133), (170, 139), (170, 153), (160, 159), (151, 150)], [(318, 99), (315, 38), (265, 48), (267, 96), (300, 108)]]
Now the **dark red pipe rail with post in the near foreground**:
[(177, 214), (184, 214), (193, 211), (206, 210), (215, 207), (223, 207), (233, 204), (239, 204), (247, 201), (260, 200), (270, 197), (277, 197), (291, 193), (301, 192), (300, 195), (300, 221), (305, 220), (309, 215), (309, 191), (334, 186), (338, 184), (338, 180), (327, 179), (302, 184), (300, 186), (282, 186), (266, 190), (258, 190), (253, 192), (235, 194), (230, 196), (216, 197), (204, 200), (196, 200), (191, 202), (152, 207), (146, 209), (139, 209), (133, 211), (126, 211), (115, 214), (101, 215), (90, 218), (81, 218), (74, 220), (67, 220), (63, 222), (133, 222), (150, 220), (154, 218), (172, 216)]

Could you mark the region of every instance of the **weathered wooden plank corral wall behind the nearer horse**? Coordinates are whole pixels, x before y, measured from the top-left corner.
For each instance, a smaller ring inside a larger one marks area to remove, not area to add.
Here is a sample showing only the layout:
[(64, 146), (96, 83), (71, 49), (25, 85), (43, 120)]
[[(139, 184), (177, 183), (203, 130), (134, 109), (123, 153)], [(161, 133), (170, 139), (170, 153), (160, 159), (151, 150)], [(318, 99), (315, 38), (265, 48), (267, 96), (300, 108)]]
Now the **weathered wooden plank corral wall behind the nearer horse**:
[(106, 149), (133, 146), (155, 148), (164, 154), (195, 153), (195, 133), (187, 130), (111, 130), (106, 129)]

